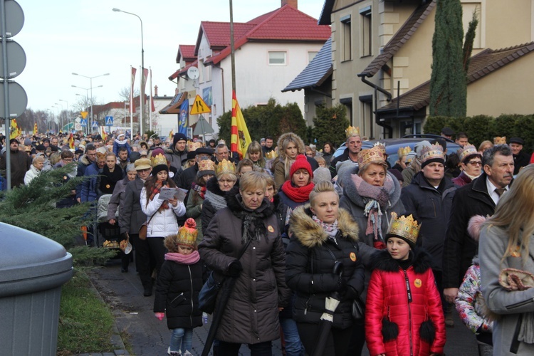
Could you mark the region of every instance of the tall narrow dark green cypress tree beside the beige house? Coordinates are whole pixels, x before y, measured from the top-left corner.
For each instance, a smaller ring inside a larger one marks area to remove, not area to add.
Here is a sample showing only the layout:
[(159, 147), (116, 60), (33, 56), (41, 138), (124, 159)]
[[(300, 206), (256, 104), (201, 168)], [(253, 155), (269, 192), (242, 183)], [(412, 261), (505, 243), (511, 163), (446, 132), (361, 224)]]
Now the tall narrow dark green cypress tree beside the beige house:
[(432, 38), (430, 115), (466, 115), (467, 84), (464, 72), (460, 0), (438, 0)]

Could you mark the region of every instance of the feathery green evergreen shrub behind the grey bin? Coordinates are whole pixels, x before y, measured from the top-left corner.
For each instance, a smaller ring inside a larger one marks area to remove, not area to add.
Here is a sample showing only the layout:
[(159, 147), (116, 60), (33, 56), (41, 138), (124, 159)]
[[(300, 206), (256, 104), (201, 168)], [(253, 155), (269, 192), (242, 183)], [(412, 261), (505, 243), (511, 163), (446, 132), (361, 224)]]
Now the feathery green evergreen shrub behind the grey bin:
[(0, 201), (0, 221), (19, 226), (36, 234), (48, 237), (63, 245), (72, 253), (75, 266), (103, 263), (115, 255), (106, 248), (75, 246), (81, 235), (81, 226), (91, 222), (89, 204), (76, 204), (70, 208), (56, 209), (56, 203), (67, 197), (85, 177), (63, 177), (75, 169), (75, 163), (66, 167), (41, 172), (30, 184), (4, 192)]

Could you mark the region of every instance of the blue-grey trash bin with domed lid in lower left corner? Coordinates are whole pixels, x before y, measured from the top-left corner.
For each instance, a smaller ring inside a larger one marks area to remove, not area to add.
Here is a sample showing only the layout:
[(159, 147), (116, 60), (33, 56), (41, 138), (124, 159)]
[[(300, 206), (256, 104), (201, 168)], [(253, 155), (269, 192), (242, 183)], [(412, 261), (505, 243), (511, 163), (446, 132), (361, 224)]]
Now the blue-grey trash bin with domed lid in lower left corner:
[(56, 355), (61, 286), (72, 276), (63, 246), (0, 223), (0, 355)]

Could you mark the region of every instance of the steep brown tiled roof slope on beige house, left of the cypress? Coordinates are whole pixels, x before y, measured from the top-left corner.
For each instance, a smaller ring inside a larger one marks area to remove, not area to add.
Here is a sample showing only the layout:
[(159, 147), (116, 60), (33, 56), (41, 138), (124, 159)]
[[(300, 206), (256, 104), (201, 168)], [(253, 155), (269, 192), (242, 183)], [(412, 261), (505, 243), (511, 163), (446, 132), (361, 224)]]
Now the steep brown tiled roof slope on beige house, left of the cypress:
[(382, 48), (382, 53), (375, 57), (359, 76), (365, 75), (366, 77), (372, 77), (375, 75), (378, 70), (380, 70), (380, 68), (382, 68), (384, 64), (395, 55), (395, 53), (397, 53), (397, 51), (399, 51), (404, 43), (407, 43), (435, 6), (436, 0), (419, 5), (412, 16), (407, 19), (404, 25), (399, 28), (399, 31), (397, 31), (386, 46)]

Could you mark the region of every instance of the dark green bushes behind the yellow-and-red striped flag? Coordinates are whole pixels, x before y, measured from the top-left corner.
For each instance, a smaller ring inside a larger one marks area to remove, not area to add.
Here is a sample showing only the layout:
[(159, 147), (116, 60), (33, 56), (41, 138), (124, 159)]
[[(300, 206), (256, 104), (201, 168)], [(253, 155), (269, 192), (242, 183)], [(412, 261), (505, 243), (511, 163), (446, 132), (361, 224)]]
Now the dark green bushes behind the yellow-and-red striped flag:
[[(242, 108), (248, 133), (252, 140), (259, 141), (262, 137), (273, 136), (276, 140), (284, 132), (295, 132), (303, 139), (306, 137), (306, 122), (296, 103), (284, 106), (277, 104), (273, 98), (267, 105), (250, 106)], [(231, 111), (224, 112), (217, 119), (219, 125), (219, 138), (230, 143)]]

